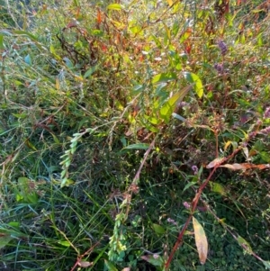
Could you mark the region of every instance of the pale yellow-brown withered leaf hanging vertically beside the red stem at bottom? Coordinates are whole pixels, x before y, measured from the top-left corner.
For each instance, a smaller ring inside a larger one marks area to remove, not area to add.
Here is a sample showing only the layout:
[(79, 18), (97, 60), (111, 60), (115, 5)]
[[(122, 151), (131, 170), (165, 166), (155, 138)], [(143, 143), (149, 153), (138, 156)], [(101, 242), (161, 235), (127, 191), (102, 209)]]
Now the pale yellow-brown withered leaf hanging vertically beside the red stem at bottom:
[(194, 217), (193, 217), (193, 229), (200, 262), (202, 265), (204, 265), (207, 259), (208, 242), (205, 235), (205, 231), (202, 228), (202, 225)]

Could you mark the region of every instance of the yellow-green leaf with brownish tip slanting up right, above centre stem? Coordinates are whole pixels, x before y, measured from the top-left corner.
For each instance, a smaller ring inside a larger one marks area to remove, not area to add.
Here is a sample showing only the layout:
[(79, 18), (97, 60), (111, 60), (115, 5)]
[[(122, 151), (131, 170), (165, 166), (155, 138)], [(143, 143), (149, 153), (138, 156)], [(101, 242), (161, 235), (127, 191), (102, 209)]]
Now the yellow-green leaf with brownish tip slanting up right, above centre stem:
[(160, 108), (160, 117), (162, 120), (166, 123), (169, 122), (172, 113), (175, 111), (176, 104), (184, 99), (184, 96), (187, 95), (192, 87), (193, 86), (185, 86), (182, 90), (166, 101), (166, 103)]

